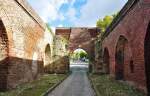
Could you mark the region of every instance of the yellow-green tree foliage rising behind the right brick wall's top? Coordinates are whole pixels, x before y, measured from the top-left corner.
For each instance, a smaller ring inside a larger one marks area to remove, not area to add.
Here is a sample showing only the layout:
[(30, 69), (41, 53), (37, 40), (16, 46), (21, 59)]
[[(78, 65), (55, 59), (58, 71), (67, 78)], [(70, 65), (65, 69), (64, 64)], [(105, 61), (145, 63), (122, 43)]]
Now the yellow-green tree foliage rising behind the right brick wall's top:
[(105, 16), (103, 19), (99, 19), (96, 22), (96, 26), (99, 27), (102, 32), (105, 32), (106, 28), (110, 25), (116, 15), (117, 14), (113, 14), (112, 16)]

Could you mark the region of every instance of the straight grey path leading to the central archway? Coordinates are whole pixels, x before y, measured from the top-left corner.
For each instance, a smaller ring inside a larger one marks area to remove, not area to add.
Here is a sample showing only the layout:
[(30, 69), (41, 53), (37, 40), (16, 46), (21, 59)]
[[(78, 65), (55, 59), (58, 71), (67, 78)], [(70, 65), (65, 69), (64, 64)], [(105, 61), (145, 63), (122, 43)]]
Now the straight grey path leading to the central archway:
[(48, 96), (95, 96), (87, 77), (87, 68), (73, 66), (72, 74)]

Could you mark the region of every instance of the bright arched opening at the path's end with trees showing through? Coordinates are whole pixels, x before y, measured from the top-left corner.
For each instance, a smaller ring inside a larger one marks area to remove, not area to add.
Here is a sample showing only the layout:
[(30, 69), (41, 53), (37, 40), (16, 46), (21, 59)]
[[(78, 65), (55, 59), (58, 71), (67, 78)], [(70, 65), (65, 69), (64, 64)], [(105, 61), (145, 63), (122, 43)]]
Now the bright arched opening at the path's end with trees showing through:
[(89, 69), (88, 53), (81, 48), (78, 48), (70, 53), (70, 70), (73, 70), (77, 67), (87, 70)]

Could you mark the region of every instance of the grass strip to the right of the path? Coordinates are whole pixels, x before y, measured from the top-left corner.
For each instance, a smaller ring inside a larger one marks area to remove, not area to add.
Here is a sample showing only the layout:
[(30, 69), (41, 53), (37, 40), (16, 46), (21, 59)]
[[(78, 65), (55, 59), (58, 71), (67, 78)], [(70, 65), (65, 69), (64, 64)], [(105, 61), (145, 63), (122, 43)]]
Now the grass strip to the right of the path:
[(109, 75), (90, 75), (97, 96), (146, 96), (123, 82), (118, 82)]

